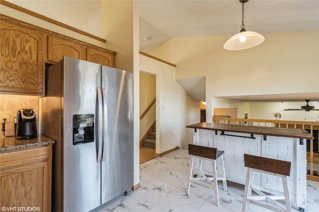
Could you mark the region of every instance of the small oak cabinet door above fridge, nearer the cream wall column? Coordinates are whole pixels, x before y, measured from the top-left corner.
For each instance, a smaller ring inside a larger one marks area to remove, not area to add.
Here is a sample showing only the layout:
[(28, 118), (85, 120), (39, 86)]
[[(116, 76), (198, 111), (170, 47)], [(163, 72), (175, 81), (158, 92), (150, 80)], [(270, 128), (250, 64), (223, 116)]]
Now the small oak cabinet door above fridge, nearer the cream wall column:
[(87, 48), (86, 60), (89, 62), (101, 64), (115, 68), (115, 55), (100, 49)]

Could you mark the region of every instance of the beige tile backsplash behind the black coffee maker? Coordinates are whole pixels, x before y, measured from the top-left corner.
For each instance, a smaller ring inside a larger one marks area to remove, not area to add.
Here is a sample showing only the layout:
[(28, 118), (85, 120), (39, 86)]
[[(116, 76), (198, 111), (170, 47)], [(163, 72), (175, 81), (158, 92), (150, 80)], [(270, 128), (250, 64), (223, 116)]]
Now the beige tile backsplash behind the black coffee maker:
[[(17, 110), (21, 108), (31, 108), (35, 111), (36, 129), (39, 132), (39, 97), (37, 96), (22, 96), (22, 95), (0, 95), (0, 123), (3, 123), (2, 115), (9, 115), (7, 121), (14, 123)], [(6, 121), (6, 122), (7, 122)], [(1, 127), (2, 129), (2, 127)], [(3, 132), (0, 132), (0, 137), (4, 137)]]

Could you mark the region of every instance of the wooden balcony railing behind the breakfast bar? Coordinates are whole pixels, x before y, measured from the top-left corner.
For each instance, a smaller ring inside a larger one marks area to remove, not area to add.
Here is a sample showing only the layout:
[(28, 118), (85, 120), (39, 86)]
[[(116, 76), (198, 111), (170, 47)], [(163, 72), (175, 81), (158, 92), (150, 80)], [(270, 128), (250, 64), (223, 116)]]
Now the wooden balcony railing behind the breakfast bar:
[(314, 137), (314, 140), (307, 140), (307, 179), (319, 181), (319, 122), (268, 119), (234, 119), (225, 117), (212, 117), (212, 121), (214, 123), (220, 124), (279, 127), (307, 130)]

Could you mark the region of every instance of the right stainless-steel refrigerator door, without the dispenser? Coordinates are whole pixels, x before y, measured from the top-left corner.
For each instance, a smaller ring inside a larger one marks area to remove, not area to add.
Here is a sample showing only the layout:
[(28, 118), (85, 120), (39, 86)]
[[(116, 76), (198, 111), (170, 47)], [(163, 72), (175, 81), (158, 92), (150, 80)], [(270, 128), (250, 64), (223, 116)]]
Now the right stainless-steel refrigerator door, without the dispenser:
[(102, 204), (133, 187), (133, 73), (102, 66)]

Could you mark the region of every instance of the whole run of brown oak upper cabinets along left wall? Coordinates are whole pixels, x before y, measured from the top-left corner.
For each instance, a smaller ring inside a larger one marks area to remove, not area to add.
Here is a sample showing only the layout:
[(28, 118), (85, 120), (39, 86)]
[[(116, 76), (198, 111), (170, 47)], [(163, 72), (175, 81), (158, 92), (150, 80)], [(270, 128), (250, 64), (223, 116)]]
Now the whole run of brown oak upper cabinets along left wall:
[(0, 94), (45, 94), (45, 64), (68, 56), (115, 68), (116, 52), (0, 14)]

